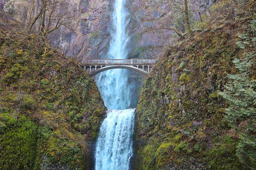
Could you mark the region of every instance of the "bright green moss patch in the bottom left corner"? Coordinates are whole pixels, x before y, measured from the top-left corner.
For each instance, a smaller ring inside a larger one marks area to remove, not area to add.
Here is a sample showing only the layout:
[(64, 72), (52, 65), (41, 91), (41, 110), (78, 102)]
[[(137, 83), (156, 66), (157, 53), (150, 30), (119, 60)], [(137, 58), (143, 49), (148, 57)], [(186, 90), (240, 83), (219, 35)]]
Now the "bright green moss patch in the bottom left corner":
[[(10, 123), (12, 120), (12, 123)], [(0, 167), (3, 169), (31, 169), (36, 157), (36, 125), (22, 116), (14, 122), (10, 118), (5, 133), (0, 135)]]

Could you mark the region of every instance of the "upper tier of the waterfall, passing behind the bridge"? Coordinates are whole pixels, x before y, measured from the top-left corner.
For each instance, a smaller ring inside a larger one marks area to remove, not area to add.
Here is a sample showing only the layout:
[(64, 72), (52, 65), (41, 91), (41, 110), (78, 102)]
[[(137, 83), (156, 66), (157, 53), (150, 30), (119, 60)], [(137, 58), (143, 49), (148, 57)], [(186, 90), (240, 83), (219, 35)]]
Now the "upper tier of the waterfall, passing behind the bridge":
[[(113, 31), (110, 42), (108, 59), (126, 59), (128, 36), (126, 25), (128, 12), (125, 9), (125, 0), (115, 0), (113, 12)], [(128, 71), (125, 69), (108, 70), (97, 76), (97, 85), (101, 91), (105, 105), (109, 109), (127, 109), (131, 103), (128, 85)]]

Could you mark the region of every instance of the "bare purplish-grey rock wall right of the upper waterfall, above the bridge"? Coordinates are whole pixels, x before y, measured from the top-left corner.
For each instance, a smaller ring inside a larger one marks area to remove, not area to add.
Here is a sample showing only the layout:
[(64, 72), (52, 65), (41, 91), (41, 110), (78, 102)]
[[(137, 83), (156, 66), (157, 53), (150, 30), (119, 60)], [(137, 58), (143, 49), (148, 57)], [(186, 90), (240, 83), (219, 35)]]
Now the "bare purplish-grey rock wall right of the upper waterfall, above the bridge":
[[(166, 48), (173, 44), (176, 35), (167, 28), (176, 27), (185, 32), (185, 28), (175, 24), (177, 20), (184, 23), (183, 1), (145, 1), (130, 0), (128, 8), (131, 14), (130, 55), (132, 58), (159, 58)], [(211, 2), (190, 1), (190, 17), (199, 18), (198, 12), (205, 12)], [(183, 18), (183, 19), (182, 19)], [(165, 28), (165, 29), (161, 29)]]

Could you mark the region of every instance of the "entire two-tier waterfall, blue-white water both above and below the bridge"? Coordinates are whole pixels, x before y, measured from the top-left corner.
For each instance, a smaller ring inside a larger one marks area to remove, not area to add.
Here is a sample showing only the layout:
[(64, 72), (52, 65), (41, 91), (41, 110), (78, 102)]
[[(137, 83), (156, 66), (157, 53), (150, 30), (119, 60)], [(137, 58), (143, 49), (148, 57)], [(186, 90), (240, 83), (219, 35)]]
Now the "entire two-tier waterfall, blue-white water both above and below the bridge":
[[(128, 42), (126, 25), (129, 23), (125, 0), (115, 0), (114, 9), (108, 58), (125, 59)], [(128, 109), (133, 88), (128, 83), (128, 71), (115, 69), (103, 72), (97, 76), (97, 85), (109, 110), (96, 144), (95, 169), (129, 169), (135, 109)]]

